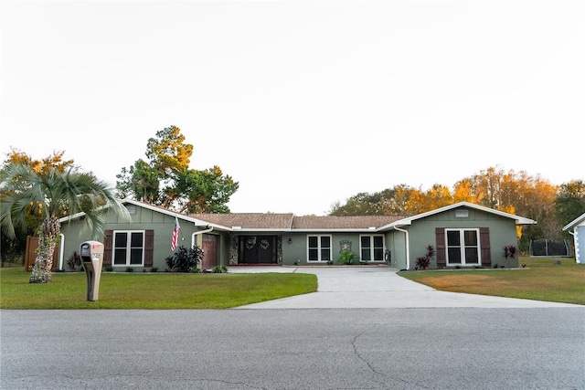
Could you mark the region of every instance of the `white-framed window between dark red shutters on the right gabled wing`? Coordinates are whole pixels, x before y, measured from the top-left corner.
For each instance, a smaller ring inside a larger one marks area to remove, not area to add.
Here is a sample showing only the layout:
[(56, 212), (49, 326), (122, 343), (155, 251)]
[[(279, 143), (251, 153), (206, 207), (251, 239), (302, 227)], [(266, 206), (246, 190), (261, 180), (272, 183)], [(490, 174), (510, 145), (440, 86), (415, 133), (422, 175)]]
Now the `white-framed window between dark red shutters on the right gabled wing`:
[(447, 265), (477, 266), (481, 264), (479, 229), (445, 229)]

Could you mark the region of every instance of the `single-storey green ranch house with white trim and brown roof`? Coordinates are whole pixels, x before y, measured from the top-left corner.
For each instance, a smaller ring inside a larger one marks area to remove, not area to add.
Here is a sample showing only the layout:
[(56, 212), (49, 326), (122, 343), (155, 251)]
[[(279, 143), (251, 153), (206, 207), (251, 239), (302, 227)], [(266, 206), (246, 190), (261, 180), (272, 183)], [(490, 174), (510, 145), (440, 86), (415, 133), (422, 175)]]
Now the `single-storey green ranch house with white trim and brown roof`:
[[(417, 216), (294, 216), (293, 214), (178, 215), (161, 207), (124, 200), (131, 222), (107, 221), (104, 266), (125, 270), (164, 270), (172, 255), (175, 218), (179, 246), (204, 249), (202, 269), (216, 265), (327, 265), (342, 250), (352, 250), (368, 264), (389, 262), (414, 269), (428, 245), (436, 248), (431, 268), (493, 267), (504, 264), (504, 247), (517, 245), (516, 226), (535, 224), (484, 206), (461, 202)], [(62, 218), (59, 269), (90, 231), (80, 228), (83, 215)], [(357, 261), (356, 261), (357, 262)], [(517, 267), (517, 258), (510, 263)]]

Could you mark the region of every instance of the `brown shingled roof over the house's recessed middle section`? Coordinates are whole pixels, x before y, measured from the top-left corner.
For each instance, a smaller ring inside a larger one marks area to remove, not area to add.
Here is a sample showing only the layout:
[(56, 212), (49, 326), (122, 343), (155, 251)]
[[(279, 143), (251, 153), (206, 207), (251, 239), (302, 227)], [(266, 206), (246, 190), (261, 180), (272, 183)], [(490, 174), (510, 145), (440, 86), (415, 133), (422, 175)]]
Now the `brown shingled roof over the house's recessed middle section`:
[(402, 216), (294, 216), (274, 213), (190, 214), (189, 216), (222, 227), (266, 230), (338, 230), (383, 227)]

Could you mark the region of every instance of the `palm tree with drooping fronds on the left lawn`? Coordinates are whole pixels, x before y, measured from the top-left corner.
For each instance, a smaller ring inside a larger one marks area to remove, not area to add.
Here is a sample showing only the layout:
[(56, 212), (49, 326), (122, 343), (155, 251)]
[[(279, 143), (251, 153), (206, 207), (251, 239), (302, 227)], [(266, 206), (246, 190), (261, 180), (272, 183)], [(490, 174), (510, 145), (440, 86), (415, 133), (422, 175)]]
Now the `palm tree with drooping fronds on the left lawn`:
[(27, 212), (41, 210), (45, 216), (37, 232), (37, 258), (30, 283), (51, 281), (53, 252), (61, 230), (59, 217), (85, 213), (83, 220), (94, 239), (102, 237), (107, 213), (130, 218), (122, 202), (114, 197), (113, 188), (91, 173), (58, 167), (35, 170), (27, 164), (11, 163), (3, 175), (0, 222), (8, 237), (15, 237), (15, 226), (25, 226)]

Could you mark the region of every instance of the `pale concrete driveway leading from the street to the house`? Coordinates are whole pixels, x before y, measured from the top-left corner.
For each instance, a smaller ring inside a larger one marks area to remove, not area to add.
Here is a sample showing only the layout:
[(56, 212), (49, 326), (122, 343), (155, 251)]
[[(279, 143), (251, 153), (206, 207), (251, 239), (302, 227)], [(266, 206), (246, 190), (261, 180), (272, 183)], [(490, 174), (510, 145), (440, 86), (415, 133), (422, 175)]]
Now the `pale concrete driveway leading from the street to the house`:
[(489, 297), (432, 289), (397, 275), (398, 269), (369, 267), (230, 267), (229, 272), (302, 272), (317, 276), (317, 292), (240, 306), (237, 309), (342, 308), (554, 308), (568, 303)]

